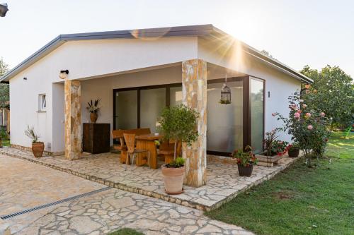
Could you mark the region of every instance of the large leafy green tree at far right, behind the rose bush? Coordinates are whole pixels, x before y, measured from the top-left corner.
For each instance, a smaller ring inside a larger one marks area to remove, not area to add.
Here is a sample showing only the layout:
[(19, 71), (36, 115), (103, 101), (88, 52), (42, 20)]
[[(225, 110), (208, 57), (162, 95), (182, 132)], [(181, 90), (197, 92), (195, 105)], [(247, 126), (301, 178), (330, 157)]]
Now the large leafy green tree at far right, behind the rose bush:
[(300, 73), (314, 80), (309, 95), (304, 98), (310, 108), (325, 112), (332, 119), (332, 127), (345, 127), (353, 123), (353, 78), (338, 66), (329, 65), (321, 71), (304, 66)]

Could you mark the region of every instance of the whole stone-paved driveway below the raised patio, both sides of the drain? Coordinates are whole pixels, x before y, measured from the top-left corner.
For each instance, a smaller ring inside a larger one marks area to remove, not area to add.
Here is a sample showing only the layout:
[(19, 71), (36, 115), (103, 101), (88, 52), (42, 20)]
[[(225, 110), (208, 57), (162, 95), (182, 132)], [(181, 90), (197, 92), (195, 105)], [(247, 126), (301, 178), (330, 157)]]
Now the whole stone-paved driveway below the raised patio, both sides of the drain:
[[(0, 155), (0, 167), (0, 215), (105, 188), (100, 183), (4, 155)], [(3, 222), (9, 224), (16, 235), (99, 235), (123, 227), (149, 235), (252, 234), (241, 227), (205, 217), (200, 210), (116, 188)]]

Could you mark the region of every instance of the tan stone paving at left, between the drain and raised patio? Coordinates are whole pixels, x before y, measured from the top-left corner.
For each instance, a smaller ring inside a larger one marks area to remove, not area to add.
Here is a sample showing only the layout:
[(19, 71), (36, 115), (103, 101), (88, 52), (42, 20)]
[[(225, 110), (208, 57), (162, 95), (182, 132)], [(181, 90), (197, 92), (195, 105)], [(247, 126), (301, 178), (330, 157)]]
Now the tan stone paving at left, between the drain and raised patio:
[(32, 162), (0, 157), (0, 216), (100, 188), (105, 186)]

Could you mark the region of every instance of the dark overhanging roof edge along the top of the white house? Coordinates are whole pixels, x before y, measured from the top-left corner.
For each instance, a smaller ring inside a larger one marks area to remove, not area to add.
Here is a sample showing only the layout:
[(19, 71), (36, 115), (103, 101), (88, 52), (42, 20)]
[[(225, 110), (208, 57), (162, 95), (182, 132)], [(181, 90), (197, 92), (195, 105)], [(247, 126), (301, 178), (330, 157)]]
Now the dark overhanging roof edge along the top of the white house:
[[(178, 37), (178, 36), (196, 36), (196, 37), (204, 37), (204, 36), (215, 36), (219, 39), (232, 37), (228, 35), (226, 32), (222, 32), (215, 28), (213, 25), (189, 25), (189, 26), (178, 26), (171, 28), (148, 28), (148, 29), (140, 29), (140, 30), (118, 30), (118, 31), (105, 31), (105, 32), (86, 32), (86, 33), (75, 33), (75, 34), (67, 34), (67, 35), (59, 35), (55, 37), (54, 40), (45, 44), (44, 47), (39, 49), (37, 52), (29, 56), (27, 59), (22, 61), (20, 64), (15, 66), (11, 71), (4, 74), (0, 78), (0, 82), (8, 81), (10, 78), (13, 78), (18, 73), (21, 73), (25, 68), (28, 68), (32, 64), (35, 64), (36, 61), (46, 56), (53, 50), (57, 49), (57, 47), (61, 46), (65, 42), (73, 41), (73, 40), (103, 40), (103, 39), (119, 39), (119, 38), (139, 38), (139, 37)], [(276, 68), (280, 68), (282, 71), (286, 71), (287, 73), (292, 74), (292, 76), (297, 77), (299, 80), (303, 80), (305, 82), (312, 83), (310, 78), (307, 76), (298, 73), (295, 69), (282, 64), (280, 61), (273, 59), (270, 56), (266, 56), (265, 54), (259, 52), (257, 49), (250, 47), (248, 44), (241, 42), (244, 47), (246, 53), (249, 53), (253, 56), (256, 56), (258, 59), (261, 59), (268, 64), (275, 66)]]

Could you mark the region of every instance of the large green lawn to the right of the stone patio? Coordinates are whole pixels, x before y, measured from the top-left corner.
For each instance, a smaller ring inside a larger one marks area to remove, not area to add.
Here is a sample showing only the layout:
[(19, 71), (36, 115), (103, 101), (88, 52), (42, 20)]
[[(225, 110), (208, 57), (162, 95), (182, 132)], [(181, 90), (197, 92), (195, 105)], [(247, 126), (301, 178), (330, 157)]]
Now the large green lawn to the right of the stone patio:
[(331, 135), (314, 169), (301, 159), (206, 214), (256, 234), (354, 234), (354, 133)]

